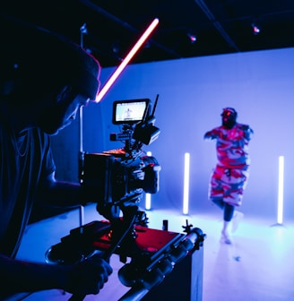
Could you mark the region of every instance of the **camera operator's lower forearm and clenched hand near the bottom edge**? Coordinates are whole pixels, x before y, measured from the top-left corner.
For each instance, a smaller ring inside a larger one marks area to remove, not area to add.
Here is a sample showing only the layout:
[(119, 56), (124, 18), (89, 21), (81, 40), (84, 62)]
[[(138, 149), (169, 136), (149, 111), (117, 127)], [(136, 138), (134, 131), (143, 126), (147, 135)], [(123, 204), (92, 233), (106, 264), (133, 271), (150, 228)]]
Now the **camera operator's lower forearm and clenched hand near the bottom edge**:
[(24, 262), (0, 254), (0, 298), (54, 288), (82, 296), (98, 294), (111, 273), (108, 262), (97, 255), (73, 265), (53, 265)]

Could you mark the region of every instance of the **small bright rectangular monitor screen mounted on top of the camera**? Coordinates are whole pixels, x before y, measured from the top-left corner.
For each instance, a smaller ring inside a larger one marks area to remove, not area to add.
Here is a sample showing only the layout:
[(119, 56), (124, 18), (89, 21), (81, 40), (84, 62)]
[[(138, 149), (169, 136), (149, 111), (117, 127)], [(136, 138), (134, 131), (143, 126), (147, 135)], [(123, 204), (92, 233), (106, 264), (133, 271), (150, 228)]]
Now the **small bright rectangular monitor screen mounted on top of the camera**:
[(150, 99), (117, 100), (113, 103), (112, 123), (134, 125), (145, 118)]

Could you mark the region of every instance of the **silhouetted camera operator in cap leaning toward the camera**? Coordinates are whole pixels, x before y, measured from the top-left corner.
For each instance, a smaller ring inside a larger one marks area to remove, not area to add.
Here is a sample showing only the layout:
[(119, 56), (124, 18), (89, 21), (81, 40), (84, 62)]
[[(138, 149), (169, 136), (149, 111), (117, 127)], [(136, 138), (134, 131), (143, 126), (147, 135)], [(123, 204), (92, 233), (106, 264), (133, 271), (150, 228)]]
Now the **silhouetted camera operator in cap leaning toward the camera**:
[(95, 99), (99, 63), (44, 30), (1, 19), (0, 25), (0, 300), (52, 288), (98, 294), (112, 272), (101, 258), (52, 265), (15, 256), (35, 202), (66, 208), (91, 202), (80, 185), (56, 181), (49, 136)]

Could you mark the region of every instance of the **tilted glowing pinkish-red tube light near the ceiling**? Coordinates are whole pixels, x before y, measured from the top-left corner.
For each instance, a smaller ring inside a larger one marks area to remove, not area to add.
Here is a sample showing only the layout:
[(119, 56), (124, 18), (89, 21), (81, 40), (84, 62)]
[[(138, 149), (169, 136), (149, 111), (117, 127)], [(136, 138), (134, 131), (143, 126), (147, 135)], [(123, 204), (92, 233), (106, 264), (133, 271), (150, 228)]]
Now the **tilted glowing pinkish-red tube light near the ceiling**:
[(117, 77), (120, 73), (123, 72), (125, 69), (125, 66), (130, 62), (130, 60), (133, 58), (133, 56), (136, 54), (136, 52), (139, 50), (139, 48), (143, 45), (146, 39), (151, 35), (151, 32), (155, 29), (155, 27), (159, 23), (159, 19), (154, 19), (147, 30), (143, 33), (140, 39), (134, 44), (134, 47), (131, 49), (131, 51), (128, 53), (127, 56), (125, 56), (125, 59), (122, 61), (121, 64), (117, 67), (117, 70), (112, 73), (112, 75), (109, 77), (108, 82), (104, 85), (104, 87), (99, 91), (99, 94), (97, 95), (95, 102), (99, 102), (104, 95), (107, 93), (107, 91), (110, 89), (110, 87), (113, 85), (113, 83), (117, 80)]

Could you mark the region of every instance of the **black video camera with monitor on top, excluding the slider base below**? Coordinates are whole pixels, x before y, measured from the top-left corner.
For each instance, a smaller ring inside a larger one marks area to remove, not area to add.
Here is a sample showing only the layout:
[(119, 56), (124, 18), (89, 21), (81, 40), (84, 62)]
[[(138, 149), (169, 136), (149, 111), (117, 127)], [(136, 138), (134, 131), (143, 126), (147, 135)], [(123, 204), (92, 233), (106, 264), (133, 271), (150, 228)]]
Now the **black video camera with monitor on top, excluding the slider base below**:
[(160, 134), (154, 126), (157, 100), (152, 112), (150, 99), (115, 101), (112, 122), (123, 131), (110, 133), (110, 141), (123, 141), (125, 146), (84, 154), (82, 185), (94, 191), (98, 211), (107, 218), (109, 208), (140, 202), (143, 192), (159, 191), (160, 165), (142, 150)]

